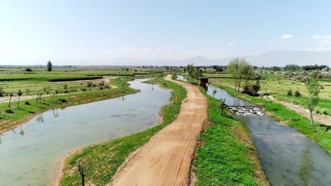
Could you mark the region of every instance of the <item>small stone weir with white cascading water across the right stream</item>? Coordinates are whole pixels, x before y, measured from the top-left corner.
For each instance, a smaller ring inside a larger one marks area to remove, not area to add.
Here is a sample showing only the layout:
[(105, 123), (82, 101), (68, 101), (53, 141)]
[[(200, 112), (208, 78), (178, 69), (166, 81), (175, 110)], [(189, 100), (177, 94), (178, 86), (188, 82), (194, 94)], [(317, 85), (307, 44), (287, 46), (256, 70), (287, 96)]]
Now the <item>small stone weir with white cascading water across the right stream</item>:
[(239, 115), (239, 116), (266, 116), (266, 114), (258, 106), (228, 105), (228, 107), (229, 107), (229, 110), (234, 115)]

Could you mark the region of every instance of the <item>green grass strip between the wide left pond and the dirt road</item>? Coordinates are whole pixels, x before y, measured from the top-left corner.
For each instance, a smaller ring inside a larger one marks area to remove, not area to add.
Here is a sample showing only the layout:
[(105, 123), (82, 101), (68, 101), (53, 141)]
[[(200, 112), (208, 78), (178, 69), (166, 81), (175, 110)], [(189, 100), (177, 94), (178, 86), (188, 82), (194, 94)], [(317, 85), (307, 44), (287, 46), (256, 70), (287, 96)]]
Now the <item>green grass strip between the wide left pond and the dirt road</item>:
[[(175, 104), (172, 102), (162, 107), (161, 113), (164, 121), (160, 125), (142, 132), (92, 145), (71, 154), (64, 162), (64, 175), (60, 180), (60, 185), (81, 185), (81, 177), (78, 171), (76, 169), (72, 171), (71, 169), (76, 167), (77, 161), (82, 160), (93, 160), (93, 166), (85, 177), (87, 182), (96, 186), (109, 183), (117, 168), (130, 153), (147, 143), (156, 132), (175, 120), (180, 111), (181, 101), (186, 97), (186, 90), (181, 93), (179, 85), (162, 78), (151, 80), (149, 83), (160, 84), (179, 95), (179, 101), (176, 101)], [(173, 100), (173, 96), (170, 100)]]

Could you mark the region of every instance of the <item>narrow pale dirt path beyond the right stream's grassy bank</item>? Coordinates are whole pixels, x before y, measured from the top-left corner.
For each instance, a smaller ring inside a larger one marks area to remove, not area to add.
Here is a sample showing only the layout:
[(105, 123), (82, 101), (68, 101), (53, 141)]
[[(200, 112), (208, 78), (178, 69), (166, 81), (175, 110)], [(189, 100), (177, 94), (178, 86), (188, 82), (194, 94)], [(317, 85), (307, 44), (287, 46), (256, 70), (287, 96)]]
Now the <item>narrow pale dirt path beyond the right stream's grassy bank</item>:
[[(276, 102), (276, 103), (280, 103), (282, 105), (284, 105), (285, 107), (287, 107), (290, 110), (293, 110), (295, 112), (297, 112), (298, 114), (310, 119), (310, 113), (308, 109), (305, 109), (303, 106), (301, 105), (295, 105), (293, 103), (290, 102), (286, 102), (286, 101), (278, 101), (276, 100), (274, 97), (272, 97), (271, 95), (268, 96), (270, 99), (272, 99), (272, 101)], [(320, 115), (317, 113), (313, 113), (313, 120), (318, 121), (319, 123), (322, 123), (324, 125), (328, 125), (331, 126), (331, 117), (330, 116), (325, 116), (325, 115)]]

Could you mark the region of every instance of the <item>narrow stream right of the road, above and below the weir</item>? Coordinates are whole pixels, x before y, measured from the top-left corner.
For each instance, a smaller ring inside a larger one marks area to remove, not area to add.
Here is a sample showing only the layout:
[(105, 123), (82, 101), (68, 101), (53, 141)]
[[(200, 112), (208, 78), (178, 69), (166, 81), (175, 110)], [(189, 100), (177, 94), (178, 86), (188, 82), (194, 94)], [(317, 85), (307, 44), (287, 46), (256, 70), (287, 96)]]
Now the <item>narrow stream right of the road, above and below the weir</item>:
[[(208, 86), (208, 94), (228, 105), (251, 105)], [(217, 95), (217, 96), (216, 96)], [(237, 116), (250, 130), (259, 159), (272, 186), (331, 186), (331, 156), (298, 130), (269, 116)]]

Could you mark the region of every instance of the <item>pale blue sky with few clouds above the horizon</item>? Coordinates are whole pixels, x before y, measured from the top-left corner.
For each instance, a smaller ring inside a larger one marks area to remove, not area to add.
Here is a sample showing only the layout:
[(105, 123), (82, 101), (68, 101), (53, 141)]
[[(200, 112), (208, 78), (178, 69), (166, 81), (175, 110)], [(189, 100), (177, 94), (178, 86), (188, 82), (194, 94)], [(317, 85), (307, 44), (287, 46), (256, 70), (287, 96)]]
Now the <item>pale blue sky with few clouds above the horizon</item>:
[(0, 1), (0, 64), (331, 50), (331, 1)]

